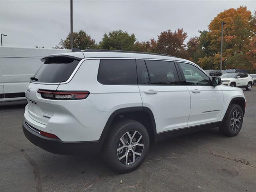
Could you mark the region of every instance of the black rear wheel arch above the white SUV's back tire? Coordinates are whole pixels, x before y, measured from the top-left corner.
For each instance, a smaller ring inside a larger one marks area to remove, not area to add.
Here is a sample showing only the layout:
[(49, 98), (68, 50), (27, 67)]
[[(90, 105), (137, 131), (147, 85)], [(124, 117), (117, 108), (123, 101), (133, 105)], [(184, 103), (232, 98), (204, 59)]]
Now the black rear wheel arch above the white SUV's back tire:
[(104, 129), (100, 136), (100, 140), (104, 142), (104, 140), (108, 136), (108, 133), (111, 130), (111, 125), (118, 120), (122, 120), (122, 118), (133, 119), (142, 123), (148, 131), (148, 134), (150, 136), (150, 142), (154, 142), (154, 138), (156, 135), (156, 122), (154, 119), (154, 115), (150, 108), (142, 106), (121, 108), (112, 112), (104, 126)]

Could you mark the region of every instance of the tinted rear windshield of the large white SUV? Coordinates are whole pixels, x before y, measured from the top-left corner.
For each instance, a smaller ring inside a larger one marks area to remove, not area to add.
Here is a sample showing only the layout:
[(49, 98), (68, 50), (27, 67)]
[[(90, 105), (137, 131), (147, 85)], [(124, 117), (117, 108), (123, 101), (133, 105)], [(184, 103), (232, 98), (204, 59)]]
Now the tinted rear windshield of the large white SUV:
[(42, 65), (35, 74), (34, 82), (60, 83), (68, 80), (79, 61), (68, 57), (53, 57)]

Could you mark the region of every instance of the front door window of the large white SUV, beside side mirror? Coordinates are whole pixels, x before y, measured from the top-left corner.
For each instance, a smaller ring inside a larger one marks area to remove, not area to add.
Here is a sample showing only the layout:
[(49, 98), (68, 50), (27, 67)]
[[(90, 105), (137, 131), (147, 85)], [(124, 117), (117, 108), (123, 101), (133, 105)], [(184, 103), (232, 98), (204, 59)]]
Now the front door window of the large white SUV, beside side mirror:
[[(194, 85), (194, 86), (211, 85), (209, 77), (206, 74), (204, 74), (204, 72), (202, 72), (200, 69), (198, 69), (196, 66), (188, 63), (182, 63), (182, 62), (179, 62), (179, 64), (185, 76), (187, 85)], [(191, 72), (191, 75), (186, 75), (187, 72), (185, 71), (187, 70)]]

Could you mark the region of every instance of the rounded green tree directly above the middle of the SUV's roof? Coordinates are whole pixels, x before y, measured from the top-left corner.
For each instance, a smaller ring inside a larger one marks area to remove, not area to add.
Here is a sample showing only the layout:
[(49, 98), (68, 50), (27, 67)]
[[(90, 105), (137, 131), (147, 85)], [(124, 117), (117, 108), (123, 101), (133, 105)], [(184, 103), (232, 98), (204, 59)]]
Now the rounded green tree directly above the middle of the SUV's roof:
[(116, 30), (104, 34), (102, 41), (99, 43), (100, 48), (110, 50), (134, 50), (134, 43), (136, 41), (135, 35), (129, 35), (128, 32)]

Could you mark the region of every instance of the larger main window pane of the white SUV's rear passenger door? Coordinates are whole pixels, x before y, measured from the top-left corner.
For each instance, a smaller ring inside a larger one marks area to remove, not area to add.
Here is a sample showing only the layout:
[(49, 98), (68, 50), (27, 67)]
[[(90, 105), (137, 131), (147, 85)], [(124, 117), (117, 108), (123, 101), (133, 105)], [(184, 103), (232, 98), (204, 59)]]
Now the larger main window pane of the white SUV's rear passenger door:
[(178, 85), (180, 84), (174, 62), (146, 60), (150, 84), (154, 85)]

